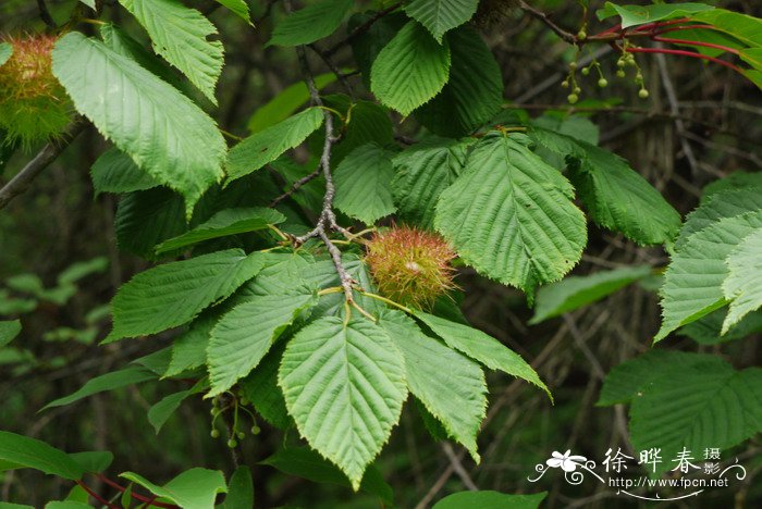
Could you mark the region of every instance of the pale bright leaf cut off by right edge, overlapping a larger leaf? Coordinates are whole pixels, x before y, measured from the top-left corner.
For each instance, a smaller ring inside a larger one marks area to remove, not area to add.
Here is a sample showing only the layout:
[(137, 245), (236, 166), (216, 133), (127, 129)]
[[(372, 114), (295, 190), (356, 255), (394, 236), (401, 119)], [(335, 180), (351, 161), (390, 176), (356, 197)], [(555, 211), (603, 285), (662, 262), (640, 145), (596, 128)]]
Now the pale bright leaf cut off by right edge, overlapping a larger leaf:
[(730, 309), (723, 323), (723, 334), (762, 306), (762, 228), (745, 237), (725, 263), (729, 273), (723, 283), (723, 294), (730, 301)]

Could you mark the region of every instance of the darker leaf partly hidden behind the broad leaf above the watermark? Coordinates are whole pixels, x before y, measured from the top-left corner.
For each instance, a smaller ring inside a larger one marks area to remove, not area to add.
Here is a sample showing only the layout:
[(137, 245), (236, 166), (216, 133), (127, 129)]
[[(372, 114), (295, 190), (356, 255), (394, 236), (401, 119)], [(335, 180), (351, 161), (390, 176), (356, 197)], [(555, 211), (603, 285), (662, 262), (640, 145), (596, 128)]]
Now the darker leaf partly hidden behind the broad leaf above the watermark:
[(673, 369), (696, 367), (712, 369), (725, 361), (717, 356), (687, 351), (651, 349), (646, 353), (617, 364), (609, 372), (601, 387), (599, 407), (630, 402), (641, 396), (641, 388)]

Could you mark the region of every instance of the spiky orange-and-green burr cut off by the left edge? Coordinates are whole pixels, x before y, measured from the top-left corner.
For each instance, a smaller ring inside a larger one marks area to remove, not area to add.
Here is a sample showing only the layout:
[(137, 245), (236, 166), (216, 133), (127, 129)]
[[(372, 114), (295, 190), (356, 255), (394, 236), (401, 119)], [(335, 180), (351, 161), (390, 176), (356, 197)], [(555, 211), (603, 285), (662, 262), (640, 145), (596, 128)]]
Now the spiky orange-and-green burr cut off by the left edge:
[(72, 104), (52, 72), (56, 37), (3, 37), (13, 48), (0, 66), (0, 129), (5, 144), (32, 144), (56, 138), (73, 117)]

